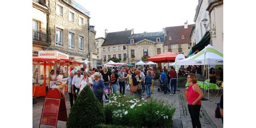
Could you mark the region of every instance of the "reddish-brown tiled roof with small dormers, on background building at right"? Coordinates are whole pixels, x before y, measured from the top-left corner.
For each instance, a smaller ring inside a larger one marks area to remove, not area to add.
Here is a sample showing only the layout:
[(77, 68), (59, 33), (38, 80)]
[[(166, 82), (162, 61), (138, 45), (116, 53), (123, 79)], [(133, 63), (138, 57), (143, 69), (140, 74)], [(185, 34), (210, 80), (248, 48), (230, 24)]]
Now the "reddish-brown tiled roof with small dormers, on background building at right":
[[(187, 25), (187, 29), (184, 29), (184, 25), (166, 27), (166, 38), (164, 45), (190, 43), (190, 33), (194, 25), (195, 24)], [(184, 39), (181, 39), (182, 35), (184, 35)], [(172, 40), (169, 40), (170, 36), (172, 37)]]

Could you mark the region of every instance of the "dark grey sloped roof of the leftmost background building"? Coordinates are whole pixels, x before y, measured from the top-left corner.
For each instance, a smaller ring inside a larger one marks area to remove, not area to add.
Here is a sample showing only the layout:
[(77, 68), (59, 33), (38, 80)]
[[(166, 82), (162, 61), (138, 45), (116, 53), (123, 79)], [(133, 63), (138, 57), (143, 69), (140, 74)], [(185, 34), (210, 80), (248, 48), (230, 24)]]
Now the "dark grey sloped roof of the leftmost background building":
[(107, 33), (106, 40), (104, 41), (102, 46), (126, 44), (128, 37), (131, 36), (131, 33), (132, 30)]

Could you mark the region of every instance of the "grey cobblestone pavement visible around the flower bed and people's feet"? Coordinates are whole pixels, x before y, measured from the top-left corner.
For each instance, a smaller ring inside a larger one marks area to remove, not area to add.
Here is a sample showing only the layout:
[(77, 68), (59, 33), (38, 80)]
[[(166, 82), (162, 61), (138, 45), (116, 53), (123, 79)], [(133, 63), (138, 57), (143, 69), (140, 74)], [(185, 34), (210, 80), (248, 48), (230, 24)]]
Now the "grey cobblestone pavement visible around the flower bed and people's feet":
[[(163, 91), (158, 92), (157, 91), (158, 86), (154, 86), (154, 91), (152, 94), (152, 98), (156, 99), (163, 99), (166, 100), (167, 103), (172, 104), (173, 107), (176, 108), (176, 111), (173, 115), (173, 119), (181, 119), (183, 122), (183, 127), (192, 127), (191, 123), (191, 118), (190, 114), (188, 112), (187, 108), (187, 102), (184, 99), (183, 95), (183, 88), (179, 87), (176, 95), (170, 96), (169, 93), (166, 95), (163, 94)], [(118, 93), (119, 93), (119, 87), (118, 87)], [(125, 95), (128, 96), (130, 95), (130, 91), (125, 90)], [(69, 96), (68, 93), (65, 95), (66, 97), (66, 108), (67, 112), (69, 114), (70, 112), (70, 103), (69, 103)], [(145, 96), (146, 98), (146, 92)], [(219, 102), (218, 97), (210, 97), (211, 100), (208, 101), (202, 101), (202, 106), (201, 106), (201, 111), (200, 111), (200, 122), (202, 127), (223, 127), (223, 124), (221, 123), (221, 119), (216, 119), (214, 118), (214, 110), (215, 110), (215, 103)], [(42, 108), (43, 108), (43, 102), (44, 98), (38, 98), (37, 99), (37, 104), (33, 104), (33, 127), (38, 127), (40, 118), (41, 118), (41, 113), (42, 113)], [(66, 127), (66, 122), (58, 121), (57, 127)]]

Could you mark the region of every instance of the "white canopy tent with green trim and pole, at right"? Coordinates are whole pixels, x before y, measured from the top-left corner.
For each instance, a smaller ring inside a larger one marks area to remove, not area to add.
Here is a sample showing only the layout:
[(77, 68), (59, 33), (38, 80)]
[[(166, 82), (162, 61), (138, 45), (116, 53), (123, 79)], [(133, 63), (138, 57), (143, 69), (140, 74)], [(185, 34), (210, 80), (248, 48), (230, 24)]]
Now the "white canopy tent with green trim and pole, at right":
[[(196, 55), (179, 60), (177, 65), (223, 65), (223, 53), (213, 48), (208, 44), (203, 50)], [(208, 66), (209, 72), (210, 66)], [(209, 79), (209, 73), (208, 73)], [(208, 84), (208, 99), (209, 99), (209, 84)]]

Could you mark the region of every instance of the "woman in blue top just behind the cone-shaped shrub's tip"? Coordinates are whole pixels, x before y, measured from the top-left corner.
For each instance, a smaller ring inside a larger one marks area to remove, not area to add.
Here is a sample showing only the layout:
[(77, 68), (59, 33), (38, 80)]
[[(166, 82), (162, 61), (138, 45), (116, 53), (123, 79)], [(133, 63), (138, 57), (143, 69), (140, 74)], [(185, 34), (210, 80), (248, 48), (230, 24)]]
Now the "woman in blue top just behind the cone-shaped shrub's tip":
[(95, 96), (98, 98), (100, 103), (103, 103), (103, 95), (105, 93), (105, 85), (103, 83), (103, 80), (99, 78), (99, 72), (95, 72), (93, 74), (95, 77), (95, 80), (93, 80), (92, 90)]

